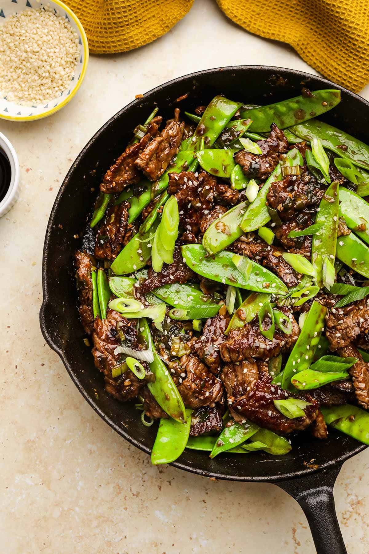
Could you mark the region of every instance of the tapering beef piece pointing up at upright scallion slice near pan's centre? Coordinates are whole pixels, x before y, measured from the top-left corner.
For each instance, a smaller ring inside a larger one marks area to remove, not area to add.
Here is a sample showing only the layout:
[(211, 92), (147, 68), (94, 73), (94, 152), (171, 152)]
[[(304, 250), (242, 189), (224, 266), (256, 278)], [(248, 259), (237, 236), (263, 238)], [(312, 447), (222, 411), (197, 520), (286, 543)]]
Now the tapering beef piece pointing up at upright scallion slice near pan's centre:
[(189, 342), (191, 350), (210, 367), (212, 373), (220, 369), (219, 347), (225, 340), (225, 330), (231, 320), (226, 306), (223, 305), (217, 315), (206, 320), (200, 337), (194, 337)]

